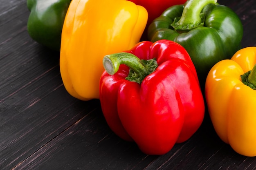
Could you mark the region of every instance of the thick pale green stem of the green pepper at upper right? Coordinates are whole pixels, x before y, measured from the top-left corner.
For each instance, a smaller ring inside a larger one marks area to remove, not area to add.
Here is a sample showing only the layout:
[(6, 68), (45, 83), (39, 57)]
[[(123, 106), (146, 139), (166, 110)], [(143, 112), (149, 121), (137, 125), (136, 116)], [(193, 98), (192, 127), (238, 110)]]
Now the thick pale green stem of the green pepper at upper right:
[(182, 16), (175, 18), (171, 26), (177, 31), (190, 31), (198, 26), (204, 26), (202, 9), (207, 4), (216, 4), (217, 0), (188, 0), (184, 6)]

